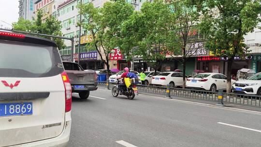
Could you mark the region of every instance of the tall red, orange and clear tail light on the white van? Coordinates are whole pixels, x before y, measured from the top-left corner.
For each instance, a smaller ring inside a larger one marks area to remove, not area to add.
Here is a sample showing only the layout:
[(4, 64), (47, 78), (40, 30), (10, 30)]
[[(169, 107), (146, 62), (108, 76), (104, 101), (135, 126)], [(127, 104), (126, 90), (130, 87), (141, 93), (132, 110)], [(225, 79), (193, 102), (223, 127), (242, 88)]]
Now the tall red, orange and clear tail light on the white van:
[(65, 89), (65, 112), (69, 112), (72, 109), (72, 86), (67, 73), (63, 72), (61, 76)]

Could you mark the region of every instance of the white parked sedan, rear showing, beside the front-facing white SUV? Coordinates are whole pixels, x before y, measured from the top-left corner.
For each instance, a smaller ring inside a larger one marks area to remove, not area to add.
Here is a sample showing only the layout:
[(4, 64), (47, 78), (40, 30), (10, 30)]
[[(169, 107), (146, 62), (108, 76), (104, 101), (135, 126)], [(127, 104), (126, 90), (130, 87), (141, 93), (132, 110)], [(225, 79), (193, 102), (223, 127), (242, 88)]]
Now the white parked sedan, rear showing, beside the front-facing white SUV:
[[(231, 85), (235, 80), (231, 79)], [(199, 73), (188, 78), (186, 87), (188, 89), (217, 91), (219, 88), (227, 88), (227, 77), (221, 73)]]

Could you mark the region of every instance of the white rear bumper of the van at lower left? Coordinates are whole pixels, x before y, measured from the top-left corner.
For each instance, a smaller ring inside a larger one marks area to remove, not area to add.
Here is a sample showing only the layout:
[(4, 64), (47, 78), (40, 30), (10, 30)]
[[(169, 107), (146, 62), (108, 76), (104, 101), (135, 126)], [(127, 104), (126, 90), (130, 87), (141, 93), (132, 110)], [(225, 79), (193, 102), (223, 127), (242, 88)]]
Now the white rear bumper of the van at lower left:
[(72, 124), (71, 114), (69, 114), (68, 117), (70, 118), (68, 118), (69, 120), (68, 119), (66, 120), (63, 132), (59, 136), (55, 138), (35, 141), (27, 144), (15, 145), (11, 147), (66, 147), (70, 139), (71, 124)]

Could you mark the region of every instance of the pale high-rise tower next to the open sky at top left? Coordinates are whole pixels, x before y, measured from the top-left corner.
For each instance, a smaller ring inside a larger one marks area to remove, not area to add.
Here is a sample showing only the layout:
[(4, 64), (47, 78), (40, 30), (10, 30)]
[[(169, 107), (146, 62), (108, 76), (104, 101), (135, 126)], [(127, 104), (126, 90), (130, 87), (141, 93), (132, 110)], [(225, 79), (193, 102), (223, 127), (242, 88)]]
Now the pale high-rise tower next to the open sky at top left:
[(19, 0), (19, 17), (32, 20), (34, 17), (34, 2), (35, 0)]

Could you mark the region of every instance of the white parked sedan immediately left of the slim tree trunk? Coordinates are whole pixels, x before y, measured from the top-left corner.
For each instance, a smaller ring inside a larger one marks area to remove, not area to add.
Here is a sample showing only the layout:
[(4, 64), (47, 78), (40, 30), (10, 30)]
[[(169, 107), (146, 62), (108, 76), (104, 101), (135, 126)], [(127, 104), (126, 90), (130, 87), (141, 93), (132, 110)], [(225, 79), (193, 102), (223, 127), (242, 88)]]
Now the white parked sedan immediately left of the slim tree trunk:
[(152, 85), (180, 87), (183, 85), (183, 73), (163, 72), (152, 77)]

